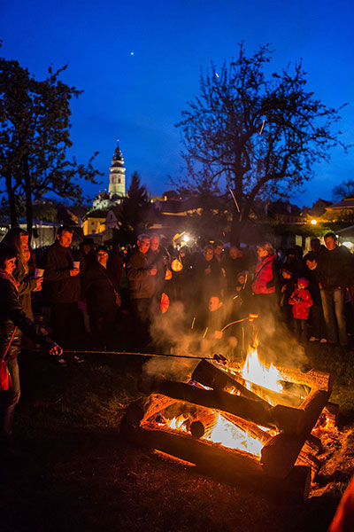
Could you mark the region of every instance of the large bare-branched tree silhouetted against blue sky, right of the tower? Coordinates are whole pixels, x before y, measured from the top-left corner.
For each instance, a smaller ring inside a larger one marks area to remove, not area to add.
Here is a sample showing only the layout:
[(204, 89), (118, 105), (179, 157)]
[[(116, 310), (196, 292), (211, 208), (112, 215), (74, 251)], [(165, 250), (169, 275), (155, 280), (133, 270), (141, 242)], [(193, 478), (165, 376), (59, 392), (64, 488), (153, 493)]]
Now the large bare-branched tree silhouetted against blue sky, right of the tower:
[(314, 162), (329, 159), (332, 146), (348, 147), (339, 140), (340, 131), (332, 132), (339, 110), (305, 90), (301, 63), (266, 79), (271, 55), (263, 45), (247, 57), (241, 44), (229, 65), (211, 63), (200, 75), (199, 95), (176, 124), (188, 171), (180, 189), (231, 189), (240, 207), (234, 215), (235, 240), (256, 199), (289, 196), (312, 178)]

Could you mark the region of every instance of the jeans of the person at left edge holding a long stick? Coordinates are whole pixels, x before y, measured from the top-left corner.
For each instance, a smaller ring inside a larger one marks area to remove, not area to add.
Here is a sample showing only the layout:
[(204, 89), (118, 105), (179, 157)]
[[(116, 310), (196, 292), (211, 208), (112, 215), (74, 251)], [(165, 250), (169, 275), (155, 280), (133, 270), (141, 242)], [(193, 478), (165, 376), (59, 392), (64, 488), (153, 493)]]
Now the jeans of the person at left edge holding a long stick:
[(6, 361), (12, 378), (12, 387), (5, 392), (0, 392), (0, 435), (11, 436), (13, 416), (16, 404), (19, 403), (19, 364), (17, 358)]

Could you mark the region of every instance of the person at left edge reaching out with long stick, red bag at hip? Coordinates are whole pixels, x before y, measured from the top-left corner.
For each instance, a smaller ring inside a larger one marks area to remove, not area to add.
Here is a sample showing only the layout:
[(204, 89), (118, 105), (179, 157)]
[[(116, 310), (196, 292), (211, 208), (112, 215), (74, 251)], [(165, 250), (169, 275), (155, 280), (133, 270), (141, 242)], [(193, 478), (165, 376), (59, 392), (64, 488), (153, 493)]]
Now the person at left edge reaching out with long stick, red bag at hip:
[(21, 346), (21, 332), (35, 343), (46, 348), (50, 355), (61, 355), (62, 349), (45, 335), (21, 309), (19, 283), (12, 273), (16, 267), (16, 253), (11, 247), (0, 244), (0, 359), (6, 361), (12, 378), (12, 387), (0, 392), (0, 434), (5, 447), (12, 435), (12, 422), (16, 404), (19, 402), (18, 355)]

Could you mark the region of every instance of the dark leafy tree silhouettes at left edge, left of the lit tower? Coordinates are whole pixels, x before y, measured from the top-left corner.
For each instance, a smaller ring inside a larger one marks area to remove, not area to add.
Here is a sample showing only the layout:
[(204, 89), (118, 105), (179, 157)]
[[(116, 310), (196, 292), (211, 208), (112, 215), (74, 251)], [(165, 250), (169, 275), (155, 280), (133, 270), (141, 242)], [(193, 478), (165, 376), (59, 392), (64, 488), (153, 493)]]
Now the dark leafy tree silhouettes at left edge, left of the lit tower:
[(81, 90), (59, 80), (66, 66), (36, 81), (18, 61), (0, 58), (0, 178), (4, 179), (12, 224), (17, 223), (20, 197), (32, 229), (32, 201), (46, 192), (79, 200), (81, 179), (95, 183), (98, 172), (66, 158), (70, 139), (70, 101)]

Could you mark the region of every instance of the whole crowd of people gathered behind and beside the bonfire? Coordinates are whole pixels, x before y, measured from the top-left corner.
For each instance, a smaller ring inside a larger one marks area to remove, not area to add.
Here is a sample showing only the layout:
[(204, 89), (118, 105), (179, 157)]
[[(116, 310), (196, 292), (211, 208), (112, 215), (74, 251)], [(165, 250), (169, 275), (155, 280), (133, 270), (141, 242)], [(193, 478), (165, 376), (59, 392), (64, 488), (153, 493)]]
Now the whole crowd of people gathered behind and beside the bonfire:
[(0, 243), (0, 349), (12, 379), (0, 394), (3, 436), (12, 434), (19, 401), (21, 349), (40, 345), (63, 366), (70, 350), (149, 352), (164, 340), (153, 325), (165, 320), (167, 326), (176, 305), (186, 332), (226, 351), (244, 344), (237, 324), (250, 317), (258, 318), (259, 332), (273, 320), (301, 343), (348, 345), (353, 255), (332, 232), (324, 245), (312, 239), (304, 256), (300, 246), (275, 250), (269, 242), (257, 251), (218, 240), (192, 248), (141, 234), (123, 252), (93, 239), (73, 249), (72, 239), (73, 230), (60, 227), (53, 245), (34, 253), (27, 231), (14, 227)]

